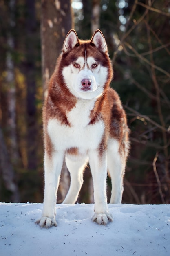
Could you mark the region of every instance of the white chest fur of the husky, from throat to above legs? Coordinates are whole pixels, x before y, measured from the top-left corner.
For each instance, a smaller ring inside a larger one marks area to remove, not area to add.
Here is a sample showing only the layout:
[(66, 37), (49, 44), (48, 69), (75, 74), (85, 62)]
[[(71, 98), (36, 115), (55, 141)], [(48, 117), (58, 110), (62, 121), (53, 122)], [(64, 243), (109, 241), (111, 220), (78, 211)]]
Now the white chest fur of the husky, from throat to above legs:
[(56, 150), (79, 148), (80, 151), (98, 148), (104, 133), (104, 122), (98, 120), (89, 124), (95, 100), (79, 100), (66, 113), (70, 126), (63, 125), (56, 118), (48, 122), (48, 133)]

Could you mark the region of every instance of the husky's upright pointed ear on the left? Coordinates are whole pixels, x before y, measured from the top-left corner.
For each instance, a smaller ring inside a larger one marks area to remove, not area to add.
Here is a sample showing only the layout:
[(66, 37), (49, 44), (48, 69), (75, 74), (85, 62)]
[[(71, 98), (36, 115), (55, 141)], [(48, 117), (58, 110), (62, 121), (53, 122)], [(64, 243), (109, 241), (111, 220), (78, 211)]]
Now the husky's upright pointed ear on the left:
[(63, 52), (70, 51), (71, 49), (73, 49), (75, 47), (75, 45), (77, 45), (77, 43), (79, 43), (79, 38), (78, 38), (75, 30), (71, 29), (66, 36), (62, 51)]

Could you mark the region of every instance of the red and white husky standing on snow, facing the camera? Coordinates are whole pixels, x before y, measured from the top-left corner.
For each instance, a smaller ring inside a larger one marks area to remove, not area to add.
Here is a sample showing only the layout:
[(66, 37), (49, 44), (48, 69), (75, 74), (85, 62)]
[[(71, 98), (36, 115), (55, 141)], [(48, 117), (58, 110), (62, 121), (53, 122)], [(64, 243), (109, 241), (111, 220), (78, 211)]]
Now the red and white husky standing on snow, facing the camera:
[(56, 194), (64, 157), (71, 175), (65, 204), (76, 202), (89, 162), (98, 224), (112, 221), (106, 198), (106, 175), (112, 179), (110, 203), (121, 203), (128, 155), (126, 115), (115, 90), (106, 41), (97, 30), (79, 40), (71, 29), (51, 76), (43, 109), (45, 191), (41, 227), (57, 225)]

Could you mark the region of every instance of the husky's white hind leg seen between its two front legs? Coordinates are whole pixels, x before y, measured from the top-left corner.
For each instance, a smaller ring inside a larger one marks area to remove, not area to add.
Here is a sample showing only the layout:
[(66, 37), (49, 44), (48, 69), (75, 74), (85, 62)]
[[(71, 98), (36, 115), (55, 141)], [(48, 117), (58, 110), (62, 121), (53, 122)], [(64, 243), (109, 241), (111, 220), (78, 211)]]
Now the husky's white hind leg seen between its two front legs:
[(88, 158), (73, 161), (66, 157), (66, 166), (70, 172), (71, 184), (63, 204), (74, 204), (77, 201), (79, 191), (83, 184), (83, 171), (88, 163)]

